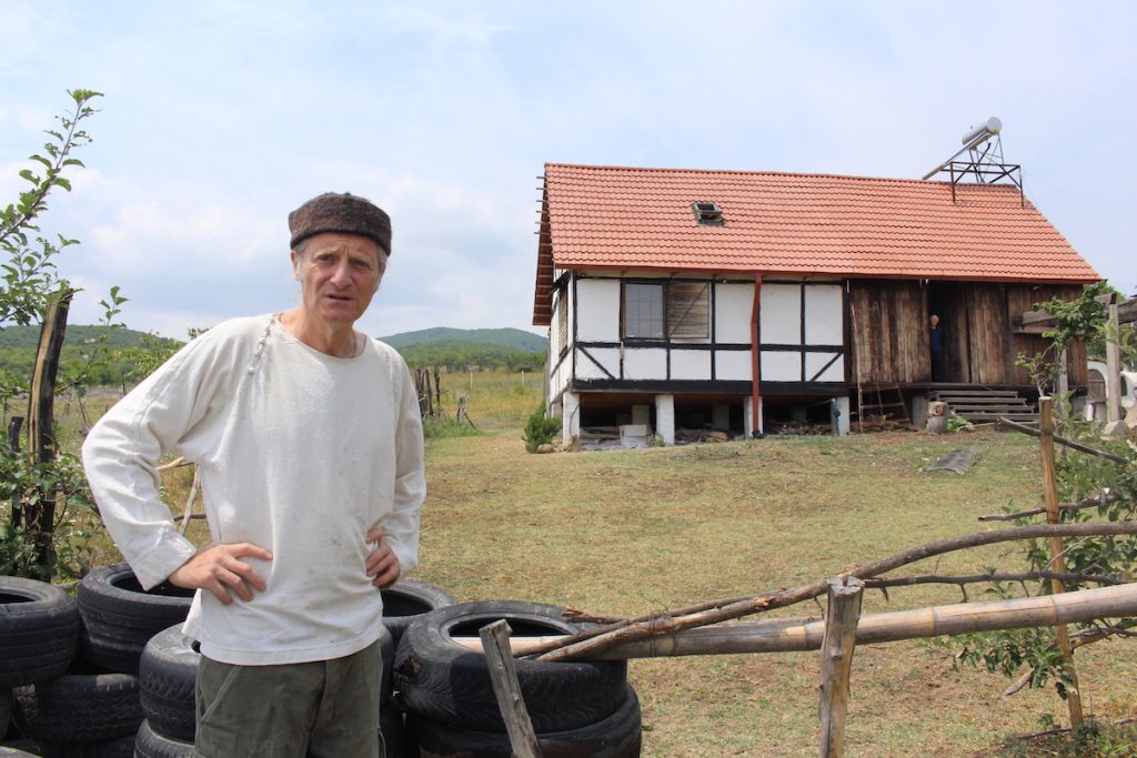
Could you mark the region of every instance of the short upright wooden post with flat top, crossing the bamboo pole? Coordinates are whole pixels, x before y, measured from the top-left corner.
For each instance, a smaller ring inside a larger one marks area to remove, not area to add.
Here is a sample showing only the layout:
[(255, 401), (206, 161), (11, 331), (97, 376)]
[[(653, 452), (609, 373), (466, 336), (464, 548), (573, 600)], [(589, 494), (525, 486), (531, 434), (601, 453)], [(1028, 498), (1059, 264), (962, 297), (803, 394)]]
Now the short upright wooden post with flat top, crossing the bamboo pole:
[(845, 753), (845, 714), (856, 626), (861, 619), (864, 582), (855, 576), (829, 580), (829, 611), (821, 643), (821, 758)]

